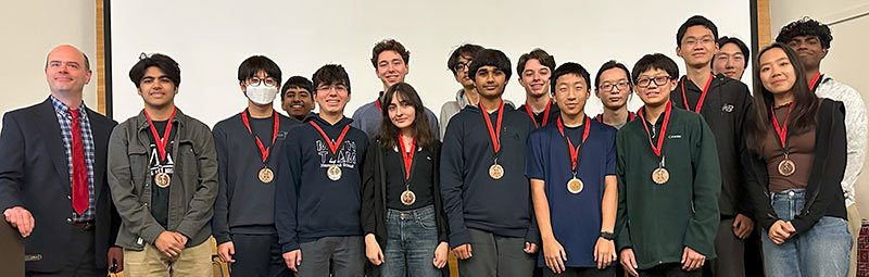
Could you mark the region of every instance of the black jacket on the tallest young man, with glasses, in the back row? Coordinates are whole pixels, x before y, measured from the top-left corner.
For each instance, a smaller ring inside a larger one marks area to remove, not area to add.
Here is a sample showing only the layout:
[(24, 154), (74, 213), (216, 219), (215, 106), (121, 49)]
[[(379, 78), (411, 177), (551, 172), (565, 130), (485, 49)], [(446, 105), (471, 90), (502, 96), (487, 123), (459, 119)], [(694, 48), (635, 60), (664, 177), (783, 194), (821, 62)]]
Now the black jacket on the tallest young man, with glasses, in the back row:
[[(695, 111), (703, 88), (698, 88), (687, 77), (682, 79), (689, 108)], [(682, 100), (682, 79), (670, 93), (673, 108), (685, 109)], [(736, 214), (750, 217), (753, 215), (745, 188), (743, 169), (745, 166), (740, 159), (740, 153), (745, 149), (745, 130), (750, 126), (746, 124), (746, 117), (750, 111), (752, 111), (752, 96), (745, 84), (722, 74), (713, 78), (700, 114), (713, 130), (718, 148), (718, 163), (721, 166), (721, 198), (718, 200), (718, 207), (723, 218)]]

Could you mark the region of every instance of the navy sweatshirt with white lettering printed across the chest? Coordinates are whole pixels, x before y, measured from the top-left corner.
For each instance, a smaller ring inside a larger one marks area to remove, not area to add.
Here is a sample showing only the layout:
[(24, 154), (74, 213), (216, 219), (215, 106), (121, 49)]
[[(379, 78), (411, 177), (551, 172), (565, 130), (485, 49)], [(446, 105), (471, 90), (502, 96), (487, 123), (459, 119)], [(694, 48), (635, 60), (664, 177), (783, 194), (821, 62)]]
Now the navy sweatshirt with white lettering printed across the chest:
[[(332, 158), (328, 143), (311, 125), (316, 123), (335, 141), (352, 121), (344, 117), (331, 125), (311, 114), (284, 141), (275, 191), (275, 224), (284, 253), (324, 237), (362, 236), (362, 160), (368, 136), (350, 127)], [(326, 176), (331, 164), (341, 167), (338, 180)]]

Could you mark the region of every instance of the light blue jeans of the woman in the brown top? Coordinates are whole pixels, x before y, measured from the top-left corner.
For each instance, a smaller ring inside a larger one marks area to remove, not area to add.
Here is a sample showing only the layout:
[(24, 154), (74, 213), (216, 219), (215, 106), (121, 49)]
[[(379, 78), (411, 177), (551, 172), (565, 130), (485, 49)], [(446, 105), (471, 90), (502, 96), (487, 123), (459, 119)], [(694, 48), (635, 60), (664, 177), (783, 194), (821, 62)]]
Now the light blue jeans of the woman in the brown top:
[[(803, 211), (805, 189), (770, 193), (772, 209), (789, 222)], [(811, 229), (797, 234), (781, 245), (763, 230), (764, 267), (769, 277), (846, 276), (852, 247), (847, 221), (822, 216)]]

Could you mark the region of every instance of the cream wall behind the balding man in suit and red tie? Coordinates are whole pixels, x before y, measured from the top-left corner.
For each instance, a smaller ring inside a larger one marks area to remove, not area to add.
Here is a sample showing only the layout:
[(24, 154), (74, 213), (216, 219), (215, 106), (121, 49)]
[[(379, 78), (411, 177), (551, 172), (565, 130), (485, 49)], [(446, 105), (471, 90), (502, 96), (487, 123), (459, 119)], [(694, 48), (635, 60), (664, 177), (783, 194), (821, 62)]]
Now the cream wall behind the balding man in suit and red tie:
[(90, 58), (93, 77), (85, 104), (97, 110), (97, 37), (93, 0), (0, 1), (0, 113), (28, 106), (49, 96), (46, 55), (58, 45), (73, 45)]

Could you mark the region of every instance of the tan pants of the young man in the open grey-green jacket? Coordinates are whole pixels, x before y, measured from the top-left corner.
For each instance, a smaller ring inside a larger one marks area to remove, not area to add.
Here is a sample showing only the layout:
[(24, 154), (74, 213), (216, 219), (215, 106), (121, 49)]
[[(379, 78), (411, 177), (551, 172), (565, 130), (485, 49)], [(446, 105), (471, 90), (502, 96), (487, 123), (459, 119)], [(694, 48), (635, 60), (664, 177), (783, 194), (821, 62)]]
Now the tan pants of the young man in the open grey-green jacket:
[(129, 277), (169, 277), (213, 275), (211, 244), (206, 240), (199, 245), (181, 250), (176, 257), (168, 257), (156, 247), (146, 244), (144, 250), (124, 250), (124, 274)]

